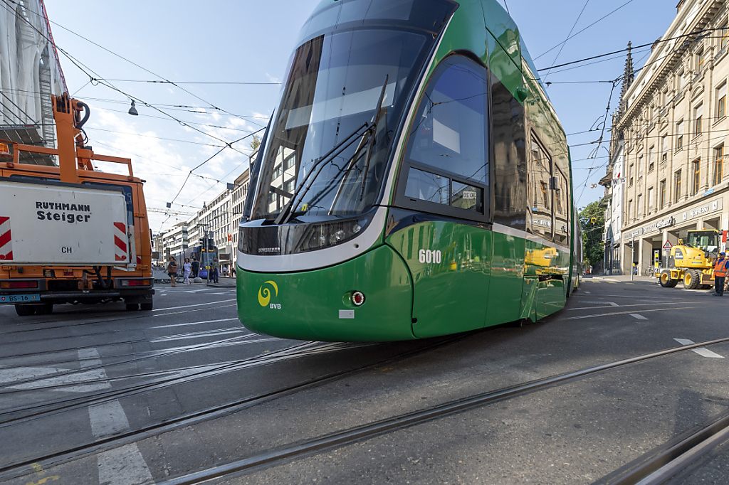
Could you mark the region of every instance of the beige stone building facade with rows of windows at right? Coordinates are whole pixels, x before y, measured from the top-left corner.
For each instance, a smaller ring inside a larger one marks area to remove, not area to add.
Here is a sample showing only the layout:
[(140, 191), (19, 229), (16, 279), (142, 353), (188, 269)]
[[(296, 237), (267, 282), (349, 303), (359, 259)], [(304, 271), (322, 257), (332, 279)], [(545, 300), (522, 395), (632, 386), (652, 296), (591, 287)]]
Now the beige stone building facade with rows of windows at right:
[(728, 1), (685, 0), (623, 90), (621, 271), (666, 264), (663, 245), (729, 225)]

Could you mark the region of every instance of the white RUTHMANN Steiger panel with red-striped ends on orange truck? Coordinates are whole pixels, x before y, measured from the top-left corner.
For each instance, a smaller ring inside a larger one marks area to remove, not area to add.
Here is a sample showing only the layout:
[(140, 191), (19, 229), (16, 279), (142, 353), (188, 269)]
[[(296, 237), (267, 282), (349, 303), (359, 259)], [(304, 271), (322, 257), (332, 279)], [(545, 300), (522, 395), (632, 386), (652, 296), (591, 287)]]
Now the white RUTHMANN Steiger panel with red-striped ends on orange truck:
[(128, 222), (118, 188), (0, 181), (2, 264), (126, 267)]

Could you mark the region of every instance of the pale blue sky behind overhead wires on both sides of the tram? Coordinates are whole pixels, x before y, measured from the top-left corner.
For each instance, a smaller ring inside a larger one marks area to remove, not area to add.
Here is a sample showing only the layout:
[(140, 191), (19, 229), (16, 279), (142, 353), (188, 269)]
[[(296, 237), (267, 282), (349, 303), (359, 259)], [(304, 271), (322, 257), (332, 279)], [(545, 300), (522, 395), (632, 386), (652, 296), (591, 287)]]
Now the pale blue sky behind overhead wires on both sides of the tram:
[[(213, 0), (204, 4), (189, 0), (74, 0), (72, 4), (67, 0), (45, 1), (50, 20), (59, 24), (52, 25), (58, 46), (100, 77), (159, 79), (64, 30), (61, 25), (165, 79), (193, 82), (279, 82), (295, 47), (300, 25), (318, 3), (318, 0)], [(559, 49), (539, 55), (563, 42), (573, 25), (574, 32), (580, 31), (618, 7), (617, 12), (566, 42), (556, 63), (618, 50), (628, 40), (634, 45), (652, 42), (663, 35), (676, 14), (676, 0), (587, 0), (586, 5), (585, 0), (507, 0), (507, 3), (537, 68), (555, 63)], [(634, 60), (647, 58), (648, 54), (647, 50), (635, 52)], [(560, 72), (555, 69), (547, 77), (547, 81), (555, 83), (547, 87), (547, 92), (566, 133), (590, 130), (604, 115), (610, 91), (608, 83), (573, 82), (615, 79), (623, 73), (624, 61), (620, 55), (580, 68)], [(219, 150), (217, 146), (221, 143), (213, 137), (233, 141), (257, 130), (258, 125), (265, 125), (265, 117), (276, 105), (280, 89), (276, 84), (184, 84), (191, 95), (167, 84), (112, 82), (147, 103), (194, 106), (190, 109), (160, 106), (160, 109), (178, 119), (198, 123), (191, 126), (205, 132), (200, 133), (174, 120), (155, 118), (165, 115), (139, 103), (139, 114), (151, 117), (131, 117), (126, 114), (129, 98), (109, 87), (87, 84), (88, 76), (63, 54), (61, 64), (70, 92), (91, 106), (92, 116), (86, 125), (90, 128), (87, 130), (90, 145), (98, 153), (134, 160), (136, 173), (147, 180), (147, 205), (152, 208), (164, 208), (165, 202), (172, 200), (182, 186), (188, 171)], [(641, 64), (636, 63), (636, 67)], [(619, 94), (620, 86), (615, 90), (611, 112)], [(241, 117), (214, 110), (211, 105)], [(597, 131), (569, 136), (579, 206), (602, 194), (602, 187), (591, 189), (590, 184), (604, 174), (607, 150), (599, 149), (596, 159), (585, 159), (594, 145), (577, 146), (595, 141), (598, 136)], [(247, 167), (248, 159), (241, 152), (250, 151), (248, 141), (235, 144), (238, 151), (225, 149), (195, 170), (208, 178), (190, 178), (176, 200), (183, 205), (173, 208), (191, 212), (222, 192), (225, 185), (216, 180), (232, 182)], [(607, 148), (608, 144), (604, 146)], [(590, 171), (590, 167), (595, 169)], [(168, 218), (156, 213), (150, 214), (150, 218), (155, 232), (163, 224), (168, 227), (176, 221), (175, 216)], [(179, 216), (179, 220), (184, 218), (187, 217)]]

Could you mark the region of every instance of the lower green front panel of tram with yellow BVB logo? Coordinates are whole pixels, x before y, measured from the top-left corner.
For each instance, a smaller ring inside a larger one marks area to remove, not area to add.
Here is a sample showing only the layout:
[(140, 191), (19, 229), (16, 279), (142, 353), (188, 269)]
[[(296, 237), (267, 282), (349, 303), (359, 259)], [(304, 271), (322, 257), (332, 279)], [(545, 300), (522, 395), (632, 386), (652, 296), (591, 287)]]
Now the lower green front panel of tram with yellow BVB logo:
[[(237, 269), (238, 318), (286, 339), (385, 342), (414, 339), (408, 268), (381, 245), (331, 267), (291, 273)], [(352, 293), (364, 294), (356, 306)]]

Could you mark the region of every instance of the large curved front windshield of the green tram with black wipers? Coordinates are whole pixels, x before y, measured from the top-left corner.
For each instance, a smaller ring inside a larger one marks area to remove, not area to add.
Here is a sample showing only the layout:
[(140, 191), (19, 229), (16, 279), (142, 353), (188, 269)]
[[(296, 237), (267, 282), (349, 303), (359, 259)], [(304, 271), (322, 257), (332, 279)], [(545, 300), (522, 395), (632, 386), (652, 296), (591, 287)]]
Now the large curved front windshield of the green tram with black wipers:
[[(338, 12), (316, 12), (309, 20), (305, 30), (314, 34), (322, 31), (311, 26), (321, 16), (338, 19), (337, 28), (304, 42), (292, 56), (252, 220), (278, 218), (280, 224), (284, 211), (286, 221), (321, 221), (357, 216), (376, 203), (408, 92), (434, 42), (432, 33), (408, 24), (411, 15), (423, 16), (416, 3), (350, 0)], [(442, 22), (446, 2), (427, 3), (441, 4), (434, 12)], [(362, 18), (342, 23), (352, 7), (374, 12), (374, 4), (388, 6), (385, 14), (397, 18), (377, 28)], [(372, 8), (362, 9), (367, 5)]]

